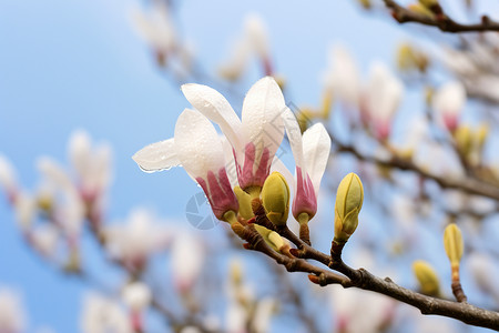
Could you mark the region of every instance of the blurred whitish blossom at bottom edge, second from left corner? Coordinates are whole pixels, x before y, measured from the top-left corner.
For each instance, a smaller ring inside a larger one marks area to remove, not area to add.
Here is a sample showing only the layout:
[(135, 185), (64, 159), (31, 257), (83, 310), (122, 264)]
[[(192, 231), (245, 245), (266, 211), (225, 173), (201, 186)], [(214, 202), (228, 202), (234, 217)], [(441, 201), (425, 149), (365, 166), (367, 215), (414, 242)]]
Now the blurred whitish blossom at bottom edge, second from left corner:
[(116, 302), (96, 293), (85, 296), (81, 330), (83, 333), (133, 333), (123, 309)]

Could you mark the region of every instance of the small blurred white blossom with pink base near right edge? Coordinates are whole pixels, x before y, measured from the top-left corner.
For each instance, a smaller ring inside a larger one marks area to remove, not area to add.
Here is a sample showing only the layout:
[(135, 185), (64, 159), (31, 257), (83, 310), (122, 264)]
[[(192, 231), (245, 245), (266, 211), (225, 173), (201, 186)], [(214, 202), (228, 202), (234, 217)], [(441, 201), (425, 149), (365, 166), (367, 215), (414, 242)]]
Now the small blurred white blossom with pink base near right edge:
[(459, 81), (440, 87), (435, 93), (431, 105), (449, 131), (457, 129), (459, 115), (466, 103), (466, 90)]

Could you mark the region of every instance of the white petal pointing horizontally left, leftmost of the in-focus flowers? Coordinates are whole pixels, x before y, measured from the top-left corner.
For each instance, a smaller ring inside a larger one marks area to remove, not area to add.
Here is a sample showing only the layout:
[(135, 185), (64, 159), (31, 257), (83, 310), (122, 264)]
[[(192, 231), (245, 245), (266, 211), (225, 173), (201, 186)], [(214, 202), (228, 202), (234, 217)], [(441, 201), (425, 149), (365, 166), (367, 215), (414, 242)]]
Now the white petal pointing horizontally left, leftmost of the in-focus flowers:
[(181, 164), (173, 138), (144, 147), (132, 159), (146, 172), (167, 170)]

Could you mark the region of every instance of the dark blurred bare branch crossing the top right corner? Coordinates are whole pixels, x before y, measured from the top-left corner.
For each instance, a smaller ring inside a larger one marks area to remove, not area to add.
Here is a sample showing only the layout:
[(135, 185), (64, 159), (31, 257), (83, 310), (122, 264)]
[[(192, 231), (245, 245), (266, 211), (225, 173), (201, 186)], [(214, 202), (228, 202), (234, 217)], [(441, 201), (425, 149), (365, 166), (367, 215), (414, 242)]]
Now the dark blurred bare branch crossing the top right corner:
[(399, 23), (420, 23), (424, 26), (436, 27), (444, 32), (499, 31), (499, 22), (491, 20), (488, 16), (482, 16), (480, 23), (461, 24), (446, 14), (430, 18), (407, 9), (394, 0), (384, 0), (384, 2), (387, 8), (391, 9), (394, 19)]

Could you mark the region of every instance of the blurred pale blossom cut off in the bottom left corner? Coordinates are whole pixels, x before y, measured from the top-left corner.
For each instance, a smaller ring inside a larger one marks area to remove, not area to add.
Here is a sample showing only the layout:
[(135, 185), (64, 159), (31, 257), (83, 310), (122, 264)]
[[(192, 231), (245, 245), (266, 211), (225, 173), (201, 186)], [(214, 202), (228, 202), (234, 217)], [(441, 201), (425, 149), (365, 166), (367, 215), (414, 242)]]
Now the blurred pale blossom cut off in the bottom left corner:
[(24, 333), (27, 319), (20, 296), (0, 289), (0, 333)]

